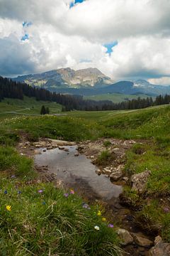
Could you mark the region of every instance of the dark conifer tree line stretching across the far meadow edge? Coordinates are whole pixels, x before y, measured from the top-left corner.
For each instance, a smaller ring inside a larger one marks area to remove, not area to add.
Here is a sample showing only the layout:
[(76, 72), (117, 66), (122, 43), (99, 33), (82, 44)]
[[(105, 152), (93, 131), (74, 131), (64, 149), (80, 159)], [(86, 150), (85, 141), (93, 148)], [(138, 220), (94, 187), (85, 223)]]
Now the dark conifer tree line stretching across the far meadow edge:
[(32, 87), (24, 82), (16, 82), (0, 76), (0, 101), (6, 98), (23, 100), (23, 97), (35, 97), (36, 100), (48, 102), (57, 102), (62, 105), (62, 111), (69, 110), (134, 110), (154, 105), (169, 104), (170, 95), (159, 95), (152, 99), (147, 97), (142, 99), (138, 97), (134, 100), (126, 99), (120, 103), (113, 103), (111, 100), (84, 100), (80, 95), (62, 95), (57, 92), (50, 92), (45, 88)]

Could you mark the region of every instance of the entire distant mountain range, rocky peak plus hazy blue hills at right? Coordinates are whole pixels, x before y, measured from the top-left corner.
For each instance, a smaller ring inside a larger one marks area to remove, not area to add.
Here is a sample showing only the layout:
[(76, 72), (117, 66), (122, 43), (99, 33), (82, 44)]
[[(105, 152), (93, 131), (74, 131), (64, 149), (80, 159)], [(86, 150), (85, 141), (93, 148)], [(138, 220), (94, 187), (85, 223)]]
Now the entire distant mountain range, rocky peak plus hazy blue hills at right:
[(22, 75), (13, 78), (18, 82), (45, 87), (47, 90), (70, 93), (74, 95), (101, 95), (106, 93), (121, 93), (126, 95), (165, 95), (170, 94), (170, 86), (152, 85), (146, 80), (119, 81), (113, 83), (111, 78), (101, 73), (97, 68), (72, 70), (60, 68), (45, 73)]

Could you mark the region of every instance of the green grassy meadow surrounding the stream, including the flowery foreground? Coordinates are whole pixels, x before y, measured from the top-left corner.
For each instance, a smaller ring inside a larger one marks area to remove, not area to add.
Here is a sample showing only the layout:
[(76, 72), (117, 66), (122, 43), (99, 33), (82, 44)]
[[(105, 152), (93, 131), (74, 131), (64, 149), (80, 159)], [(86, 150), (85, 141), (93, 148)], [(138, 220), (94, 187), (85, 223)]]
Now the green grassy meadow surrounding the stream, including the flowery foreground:
[[(7, 115), (1, 119), (0, 162), (3, 178), (0, 219), (3, 227), (1, 234), (4, 234), (1, 238), (3, 255), (10, 255), (9, 250), (11, 255), (16, 252), (16, 255), (31, 255), (30, 252), (33, 255), (47, 255), (49, 250), (50, 253), (69, 255), (69, 247), (73, 255), (79, 255), (78, 251), (81, 255), (108, 255), (107, 250), (111, 255), (118, 255), (118, 250), (115, 250), (118, 245), (115, 232), (96, 216), (98, 206), (84, 210), (80, 198), (69, 195), (67, 200), (63, 197), (64, 191), (54, 188), (52, 184), (25, 185), (28, 179), (36, 177), (33, 162), (18, 155), (15, 149), (23, 132), (33, 142), (39, 137), (76, 142), (101, 137), (139, 140), (125, 156), (125, 176), (130, 177), (145, 169), (152, 173), (145, 193), (138, 195), (130, 186), (126, 186), (124, 197), (137, 210), (137, 220), (142, 223), (142, 228), (159, 232), (164, 240), (170, 242), (169, 121), (169, 105), (144, 110), (75, 111), (61, 117), (45, 115), (8, 118)], [(16, 179), (9, 178), (9, 174), (10, 177), (15, 175)], [(16, 184), (23, 191), (19, 196)], [(38, 189), (42, 189), (43, 193), (39, 194)], [(5, 190), (10, 191), (6, 196), (3, 192)], [(45, 205), (42, 205), (44, 201)], [(11, 206), (11, 211), (5, 210), (6, 205)], [(37, 222), (38, 225), (35, 225)], [(101, 229), (95, 230), (96, 225)], [(83, 234), (81, 239), (79, 233)], [(54, 245), (56, 251), (53, 251)], [(106, 250), (106, 247), (109, 249)]]

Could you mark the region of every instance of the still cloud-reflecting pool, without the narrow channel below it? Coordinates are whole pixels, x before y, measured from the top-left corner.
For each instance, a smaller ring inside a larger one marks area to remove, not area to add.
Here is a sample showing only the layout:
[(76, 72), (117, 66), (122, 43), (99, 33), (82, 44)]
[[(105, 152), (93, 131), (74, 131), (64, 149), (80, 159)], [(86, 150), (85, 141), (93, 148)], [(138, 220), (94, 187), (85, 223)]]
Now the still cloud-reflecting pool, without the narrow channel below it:
[(51, 173), (57, 174), (57, 178), (64, 181), (67, 186), (79, 188), (85, 196), (101, 198), (105, 201), (118, 198), (122, 193), (122, 186), (111, 183), (106, 176), (96, 174), (96, 166), (85, 155), (77, 153), (77, 146), (64, 146), (61, 149), (51, 149), (35, 155), (35, 164), (48, 166)]

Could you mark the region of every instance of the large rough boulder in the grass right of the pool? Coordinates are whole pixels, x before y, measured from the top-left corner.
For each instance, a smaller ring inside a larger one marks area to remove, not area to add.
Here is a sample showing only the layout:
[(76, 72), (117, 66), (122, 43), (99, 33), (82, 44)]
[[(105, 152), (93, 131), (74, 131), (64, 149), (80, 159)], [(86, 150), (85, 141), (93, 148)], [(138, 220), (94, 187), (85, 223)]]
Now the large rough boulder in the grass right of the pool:
[(142, 193), (145, 190), (145, 185), (147, 183), (147, 178), (150, 176), (151, 171), (146, 170), (141, 174), (134, 174), (131, 177), (132, 189)]

